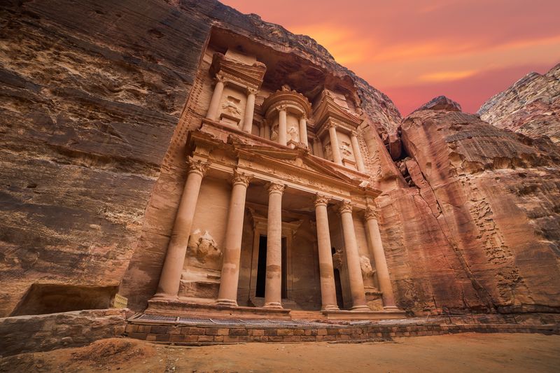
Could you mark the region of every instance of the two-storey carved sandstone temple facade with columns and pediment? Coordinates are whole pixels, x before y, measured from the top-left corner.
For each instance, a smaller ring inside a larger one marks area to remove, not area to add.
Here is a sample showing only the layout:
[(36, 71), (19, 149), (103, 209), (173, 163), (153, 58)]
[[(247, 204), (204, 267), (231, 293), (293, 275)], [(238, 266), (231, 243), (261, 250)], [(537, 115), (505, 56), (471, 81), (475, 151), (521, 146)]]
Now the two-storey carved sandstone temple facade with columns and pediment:
[(264, 53), (227, 38), (207, 45), (181, 118), (187, 176), (147, 312), (402, 318), (355, 95), (336, 81), (302, 94)]

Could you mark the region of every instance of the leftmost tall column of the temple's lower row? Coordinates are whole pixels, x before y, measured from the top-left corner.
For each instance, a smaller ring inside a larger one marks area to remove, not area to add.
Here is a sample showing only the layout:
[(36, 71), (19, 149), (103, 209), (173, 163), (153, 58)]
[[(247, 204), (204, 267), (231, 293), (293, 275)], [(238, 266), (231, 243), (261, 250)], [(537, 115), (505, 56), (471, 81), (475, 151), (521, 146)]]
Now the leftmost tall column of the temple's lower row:
[(167, 246), (158, 292), (154, 297), (175, 298), (179, 293), (181, 272), (183, 272), (183, 265), (185, 264), (188, 238), (195, 217), (198, 193), (200, 192), (202, 178), (209, 166), (208, 162), (194, 160), (192, 157), (189, 157), (188, 163), (187, 181), (185, 188), (183, 188), (181, 202), (179, 202), (171, 240), (169, 246)]

